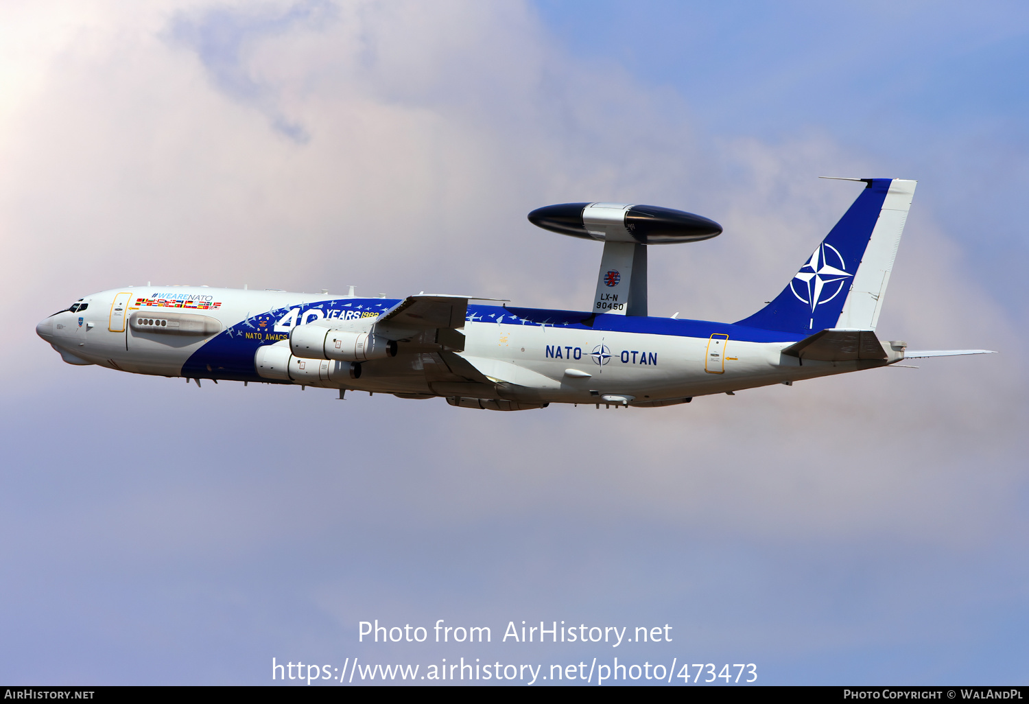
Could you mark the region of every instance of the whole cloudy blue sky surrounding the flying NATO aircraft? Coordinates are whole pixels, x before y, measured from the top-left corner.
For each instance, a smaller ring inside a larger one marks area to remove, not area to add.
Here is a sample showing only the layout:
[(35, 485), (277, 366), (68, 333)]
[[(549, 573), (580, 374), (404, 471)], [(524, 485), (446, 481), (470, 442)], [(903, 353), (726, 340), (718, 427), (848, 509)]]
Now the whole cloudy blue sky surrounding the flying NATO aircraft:
[[(0, 679), (265, 683), (271, 658), (577, 663), (357, 622), (671, 624), (760, 683), (1024, 681), (1027, 11), (1016, 3), (62, 3), (0, 10)], [(60, 21), (55, 20), (60, 17)], [(880, 329), (1000, 350), (651, 411), (144, 378), (35, 323), (153, 281), (577, 308), (526, 213), (713, 217), (657, 315), (735, 320), (919, 179)], [(437, 402), (438, 401), (438, 402)], [(620, 654), (622, 652), (618, 652)], [(528, 654), (528, 655), (527, 655)]]

